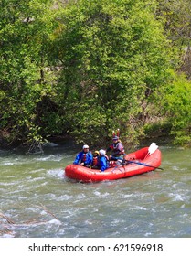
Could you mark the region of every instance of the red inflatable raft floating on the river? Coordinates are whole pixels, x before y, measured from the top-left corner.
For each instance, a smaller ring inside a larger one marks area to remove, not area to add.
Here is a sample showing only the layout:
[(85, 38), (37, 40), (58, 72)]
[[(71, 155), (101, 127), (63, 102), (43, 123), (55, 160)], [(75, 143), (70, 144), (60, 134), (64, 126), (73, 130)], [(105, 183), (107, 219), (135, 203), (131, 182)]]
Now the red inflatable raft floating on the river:
[(125, 155), (125, 164), (119, 165), (116, 162), (111, 162), (110, 167), (104, 172), (82, 165), (67, 165), (65, 176), (69, 179), (90, 183), (142, 175), (154, 171), (154, 169), (159, 168), (161, 165), (161, 151), (156, 149), (153, 154), (149, 155), (148, 150), (149, 147), (144, 147)]

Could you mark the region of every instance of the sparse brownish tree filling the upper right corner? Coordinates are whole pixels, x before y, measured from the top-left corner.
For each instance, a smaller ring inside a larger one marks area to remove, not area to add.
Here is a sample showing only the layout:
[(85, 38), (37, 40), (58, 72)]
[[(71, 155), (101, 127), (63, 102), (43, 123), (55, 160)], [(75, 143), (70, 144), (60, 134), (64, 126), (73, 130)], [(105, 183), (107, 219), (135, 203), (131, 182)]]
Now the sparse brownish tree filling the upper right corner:
[(157, 16), (164, 20), (164, 32), (179, 54), (179, 70), (191, 78), (191, 1), (157, 0)]

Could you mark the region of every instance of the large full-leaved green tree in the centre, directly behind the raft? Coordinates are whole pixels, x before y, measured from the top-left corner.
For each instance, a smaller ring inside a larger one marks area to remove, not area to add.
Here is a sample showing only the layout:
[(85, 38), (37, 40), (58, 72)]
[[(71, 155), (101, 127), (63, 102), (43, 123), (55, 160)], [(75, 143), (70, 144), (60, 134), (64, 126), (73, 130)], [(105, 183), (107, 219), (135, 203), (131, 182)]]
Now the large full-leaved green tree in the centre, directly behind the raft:
[(155, 1), (136, 0), (79, 0), (64, 9), (59, 88), (70, 132), (82, 140), (121, 128), (135, 144), (143, 133), (143, 108), (172, 67), (155, 11)]

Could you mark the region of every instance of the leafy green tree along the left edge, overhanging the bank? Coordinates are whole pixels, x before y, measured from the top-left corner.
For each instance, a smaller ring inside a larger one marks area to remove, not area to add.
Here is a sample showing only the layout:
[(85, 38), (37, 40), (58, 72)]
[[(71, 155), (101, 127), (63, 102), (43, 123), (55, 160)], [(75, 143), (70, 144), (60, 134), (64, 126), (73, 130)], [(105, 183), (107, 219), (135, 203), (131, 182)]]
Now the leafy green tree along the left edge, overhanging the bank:
[(0, 130), (40, 140), (37, 103), (54, 93), (48, 49), (57, 26), (51, 0), (0, 3)]

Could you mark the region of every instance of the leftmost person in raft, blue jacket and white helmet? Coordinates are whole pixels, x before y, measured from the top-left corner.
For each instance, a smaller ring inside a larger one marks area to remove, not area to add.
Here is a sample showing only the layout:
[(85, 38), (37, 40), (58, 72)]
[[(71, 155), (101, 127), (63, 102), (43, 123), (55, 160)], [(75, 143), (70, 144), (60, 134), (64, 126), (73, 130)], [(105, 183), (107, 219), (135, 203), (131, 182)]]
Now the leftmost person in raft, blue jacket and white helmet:
[(89, 151), (89, 146), (87, 144), (84, 144), (82, 149), (83, 150), (76, 156), (73, 164), (83, 165), (90, 168), (90, 165), (92, 165), (93, 161), (93, 155)]

